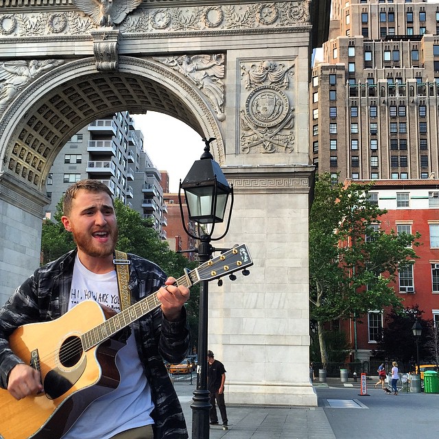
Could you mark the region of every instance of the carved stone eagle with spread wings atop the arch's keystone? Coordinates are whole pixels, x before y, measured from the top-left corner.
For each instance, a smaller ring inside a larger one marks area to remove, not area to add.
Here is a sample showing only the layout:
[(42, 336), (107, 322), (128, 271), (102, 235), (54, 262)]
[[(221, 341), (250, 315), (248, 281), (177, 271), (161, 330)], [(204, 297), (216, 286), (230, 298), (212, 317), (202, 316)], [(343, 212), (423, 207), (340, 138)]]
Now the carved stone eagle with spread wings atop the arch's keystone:
[(73, 0), (98, 26), (118, 25), (143, 0)]

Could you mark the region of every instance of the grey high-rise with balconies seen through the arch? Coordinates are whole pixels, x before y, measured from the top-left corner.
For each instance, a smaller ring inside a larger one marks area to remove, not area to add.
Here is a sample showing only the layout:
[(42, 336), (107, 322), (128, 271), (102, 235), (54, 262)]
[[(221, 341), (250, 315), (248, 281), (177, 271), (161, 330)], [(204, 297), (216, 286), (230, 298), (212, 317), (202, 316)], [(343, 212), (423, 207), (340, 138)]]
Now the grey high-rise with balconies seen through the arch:
[(161, 173), (143, 150), (143, 134), (134, 128), (128, 112), (89, 123), (64, 145), (47, 178), (51, 198), (47, 217), (56, 212), (67, 187), (84, 178), (104, 182), (115, 198), (152, 219), (154, 228), (166, 239)]

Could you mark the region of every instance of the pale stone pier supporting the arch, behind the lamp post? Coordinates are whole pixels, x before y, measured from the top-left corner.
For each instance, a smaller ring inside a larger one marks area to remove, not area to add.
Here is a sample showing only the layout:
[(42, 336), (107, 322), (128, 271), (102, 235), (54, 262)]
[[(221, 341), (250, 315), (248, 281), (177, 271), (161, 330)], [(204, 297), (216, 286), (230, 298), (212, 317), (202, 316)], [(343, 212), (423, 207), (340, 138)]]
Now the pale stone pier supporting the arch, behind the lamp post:
[(209, 286), (209, 349), (226, 401), (316, 406), (309, 381), (308, 217), (313, 167), (224, 167), (235, 206), (221, 246), (247, 244), (250, 276)]

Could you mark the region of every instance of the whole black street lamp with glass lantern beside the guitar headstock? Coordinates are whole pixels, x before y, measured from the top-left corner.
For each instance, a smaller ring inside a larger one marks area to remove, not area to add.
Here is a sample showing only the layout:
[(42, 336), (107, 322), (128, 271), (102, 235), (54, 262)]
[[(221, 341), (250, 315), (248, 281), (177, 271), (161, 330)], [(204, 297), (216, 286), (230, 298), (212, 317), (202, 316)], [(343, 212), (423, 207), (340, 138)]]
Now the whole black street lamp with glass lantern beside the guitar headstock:
[[(215, 139), (203, 139), (205, 147), (200, 160), (193, 163), (189, 174), (181, 182), (178, 191), (180, 202), (180, 214), (183, 228), (187, 235), (200, 241), (198, 258), (200, 264), (209, 261), (212, 253), (216, 250), (211, 246), (211, 241), (222, 239), (228, 232), (230, 217), (233, 208), (233, 187), (228, 185), (226, 177), (222, 173), (218, 163), (213, 160), (210, 152), (210, 143)], [(189, 232), (182, 209), (181, 189), (185, 191), (185, 198), (189, 219), (201, 225), (199, 230), (202, 232), (195, 236)], [(215, 224), (224, 222), (228, 195), (231, 195), (228, 222), (224, 233), (217, 238), (213, 238)], [(203, 226), (204, 225), (204, 226)], [(204, 227), (210, 225), (210, 232), (206, 233)], [(209, 300), (209, 281), (200, 283), (200, 320), (198, 322), (198, 368), (197, 368), (197, 387), (193, 392), (191, 404), (192, 409), (192, 439), (209, 439), (209, 390), (207, 390), (207, 335), (208, 335), (208, 300)]]

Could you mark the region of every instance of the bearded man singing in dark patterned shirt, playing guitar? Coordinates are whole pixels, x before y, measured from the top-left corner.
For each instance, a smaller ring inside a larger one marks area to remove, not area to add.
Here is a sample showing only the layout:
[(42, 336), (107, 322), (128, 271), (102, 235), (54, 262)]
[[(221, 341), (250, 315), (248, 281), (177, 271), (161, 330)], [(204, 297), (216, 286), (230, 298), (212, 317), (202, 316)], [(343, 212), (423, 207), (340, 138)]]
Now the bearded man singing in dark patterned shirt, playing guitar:
[[(61, 221), (72, 233), (76, 248), (38, 268), (0, 309), (1, 387), (7, 388), (17, 400), (50, 392), (43, 386), (40, 372), (10, 351), (9, 337), (17, 327), (32, 322), (54, 324), (51, 320), (64, 319), (65, 313), (75, 316), (71, 318), (74, 326), (75, 319), (88, 321), (88, 316), (74, 314), (76, 306), (84, 310), (90, 305), (95, 309), (91, 303), (94, 301), (104, 311), (117, 314), (122, 307), (125, 309), (127, 302), (130, 307), (131, 302), (150, 295), (153, 298), (155, 294), (153, 302), (156, 299), (159, 302), (152, 311), (145, 311), (140, 318), (134, 317), (134, 322), (117, 333), (122, 342), (115, 361), (120, 374), (119, 385), (113, 384), (106, 394), (102, 394), (103, 385), (87, 388), (91, 394), (95, 393), (91, 404), (82, 412), (78, 412), (76, 405), (62, 405), (63, 416), (56, 420), (56, 428), (71, 416), (77, 418), (73, 426), (63, 424), (56, 437), (187, 439), (182, 408), (163, 361), (178, 364), (189, 350), (189, 326), (183, 306), (189, 299), (189, 289), (175, 286), (175, 278), (167, 277), (158, 265), (137, 255), (127, 254), (128, 261), (117, 259), (115, 206), (110, 189), (102, 182), (81, 180), (69, 187), (63, 200)], [(123, 285), (124, 276), (118, 272), (121, 265), (127, 267), (126, 277), (129, 277), (129, 283), (128, 279), (124, 283), (125, 289), (118, 287), (118, 280)], [(91, 300), (83, 302), (86, 298)], [(66, 327), (65, 331), (69, 334), (71, 329)], [(43, 382), (47, 381), (46, 377)], [(43, 397), (38, 396), (36, 400)], [(67, 411), (69, 407), (74, 409), (71, 413)], [(27, 416), (32, 418), (32, 414)]]

